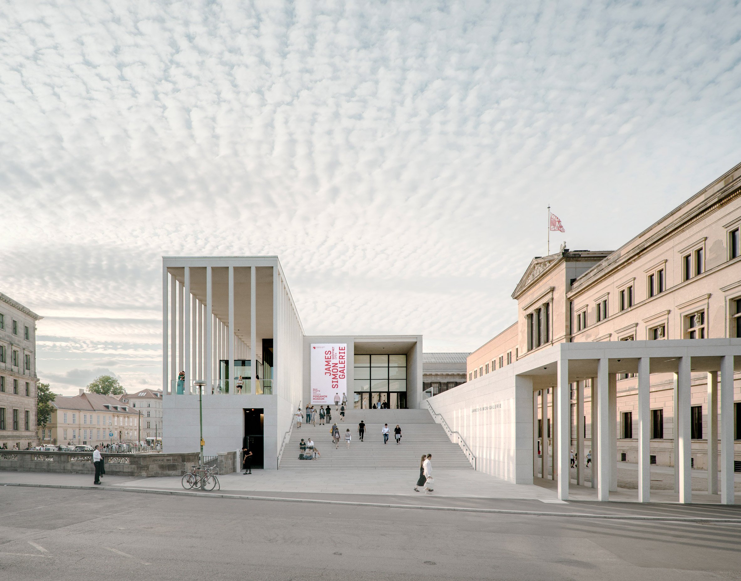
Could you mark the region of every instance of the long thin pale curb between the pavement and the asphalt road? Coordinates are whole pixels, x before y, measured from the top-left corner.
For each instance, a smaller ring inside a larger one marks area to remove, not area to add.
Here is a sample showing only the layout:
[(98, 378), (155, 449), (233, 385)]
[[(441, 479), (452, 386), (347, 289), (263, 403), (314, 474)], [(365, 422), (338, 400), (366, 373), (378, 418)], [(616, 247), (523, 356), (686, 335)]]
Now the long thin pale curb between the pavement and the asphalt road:
[(227, 498), (237, 500), (272, 500), (274, 502), (307, 502), (309, 504), (322, 505), (347, 505), (347, 506), (368, 506), (375, 508), (408, 508), (416, 511), (453, 511), (453, 512), (473, 512), (484, 514), (520, 514), (529, 517), (566, 517), (579, 519), (607, 519), (607, 520), (644, 520), (651, 522), (727, 522), (741, 524), (741, 518), (715, 518), (715, 517), (649, 517), (639, 514), (590, 514), (590, 513), (560, 513), (544, 511), (515, 511), (505, 508), (465, 508), (458, 506), (429, 506), (429, 505), (395, 505), (384, 502), (354, 502), (350, 500), (324, 500), (309, 498), (285, 498), (285, 497), (254, 497), (245, 494), (219, 494), (213, 492), (192, 492), (165, 490), (162, 488), (130, 488), (128, 486), (107, 486), (98, 488), (97, 486), (75, 486), (64, 484), (27, 484), (24, 482), (0, 482), (0, 486), (19, 486), (27, 488), (62, 488), (65, 490), (87, 490), (87, 491), (116, 491), (116, 492), (135, 492), (138, 494), (166, 494), (176, 497), (199, 497), (199, 498)]

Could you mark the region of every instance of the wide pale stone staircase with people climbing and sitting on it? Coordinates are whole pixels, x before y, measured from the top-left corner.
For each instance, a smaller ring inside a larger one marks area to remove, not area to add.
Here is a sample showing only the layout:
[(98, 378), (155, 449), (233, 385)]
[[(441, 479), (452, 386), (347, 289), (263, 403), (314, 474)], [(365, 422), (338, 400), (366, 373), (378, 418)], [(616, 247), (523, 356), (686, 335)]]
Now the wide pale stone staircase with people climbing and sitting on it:
[[(365, 439), (360, 441), (358, 424), (365, 422)], [(285, 446), (280, 468), (295, 469), (410, 469), (419, 468), (422, 454), (432, 454), (433, 466), (438, 468), (471, 468), (465, 454), (453, 444), (441, 425), (436, 424), (427, 410), (348, 410), (345, 421), (339, 421), (339, 412), (332, 409), (332, 422), (340, 431), (339, 448), (335, 448), (330, 435), (330, 425), (302, 424), (293, 427), (290, 440)], [(388, 423), (391, 431), (388, 444), (383, 443), (381, 429)], [(402, 443), (396, 445), (393, 428), (402, 428)], [(345, 430), (350, 428), (353, 439), (350, 449), (345, 445)], [(301, 439), (313, 439), (321, 457), (316, 460), (299, 460)]]

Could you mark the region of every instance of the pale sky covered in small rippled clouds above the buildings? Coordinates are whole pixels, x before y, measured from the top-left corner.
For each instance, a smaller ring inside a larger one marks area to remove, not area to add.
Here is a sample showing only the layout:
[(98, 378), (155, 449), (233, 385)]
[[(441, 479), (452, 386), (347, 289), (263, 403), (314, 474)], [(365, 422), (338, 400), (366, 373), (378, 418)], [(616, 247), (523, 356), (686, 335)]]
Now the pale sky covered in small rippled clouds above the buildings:
[(8, 1), (0, 264), (39, 376), (159, 385), (161, 256), (277, 254), (308, 333), (471, 351), (551, 248), (741, 161), (737, 1)]

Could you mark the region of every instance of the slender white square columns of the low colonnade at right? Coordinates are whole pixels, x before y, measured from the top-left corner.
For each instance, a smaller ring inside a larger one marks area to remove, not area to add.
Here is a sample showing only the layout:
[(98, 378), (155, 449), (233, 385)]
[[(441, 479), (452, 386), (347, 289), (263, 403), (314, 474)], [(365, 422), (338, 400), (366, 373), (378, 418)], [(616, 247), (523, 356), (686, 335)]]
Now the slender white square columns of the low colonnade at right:
[[(734, 503), (734, 356), (720, 356), (720, 370), (708, 371), (708, 492), (718, 494), (722, 504)], [(691, 371), (692, 357), (678, 356), (674, 374), (674, 450), (675, 491), (679, 502), (692, 499), (691, 487)], [(619, 361), (619, 359), (618, 359)], [(665, 361), (665, 359), (664, 359)], [(591, 389), (591, 486), (597, 499), (606, 501), (610, 491), (617, 491), (617, 375), (608, 371), (610, 359), (597, 359), (597, 375), (591, 379), (569, 382), (568, 359), (556, 362), (556, 385), (534, 391), (533, 474), (537, 462), (541, 474), (548, 474), (548, 402), (551, 401), (554, 462), (551, 478), (558, 483), (559, 499), (568, 499), (571, 452), (571, 385), (576, 389), (576, 484), (585, 482), (584, 405), (587, 384)], [(651, 358), (640, 357), (638, 365), (638, 500), (651, 499)], [(720, 394), (718, 393), (720, 371)], [(722, 418), (718, 421), (718, 403)], [(542, 416), (542, 454), (537, 455), (538, 407)], [(730, 421), (729, 421), (730, 420)], [(718, 439), (720, 436), (720, 462)], [(718, 482), (720, 468), (720, 483)], [(720, 486), (719, 486), (720, 484)]]

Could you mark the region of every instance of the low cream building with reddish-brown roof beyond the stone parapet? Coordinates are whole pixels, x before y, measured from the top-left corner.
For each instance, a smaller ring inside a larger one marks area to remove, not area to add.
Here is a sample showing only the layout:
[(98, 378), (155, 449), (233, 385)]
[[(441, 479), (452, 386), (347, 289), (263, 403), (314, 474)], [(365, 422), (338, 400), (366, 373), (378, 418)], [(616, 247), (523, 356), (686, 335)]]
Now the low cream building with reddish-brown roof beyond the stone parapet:
[(39, 428), (41, 443), (114, 444), (139, 440), (139, 411), (113, 396), (88, 394), (56, 396), (46, 428)]

